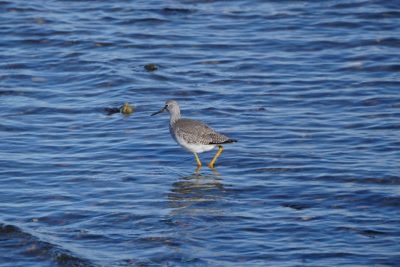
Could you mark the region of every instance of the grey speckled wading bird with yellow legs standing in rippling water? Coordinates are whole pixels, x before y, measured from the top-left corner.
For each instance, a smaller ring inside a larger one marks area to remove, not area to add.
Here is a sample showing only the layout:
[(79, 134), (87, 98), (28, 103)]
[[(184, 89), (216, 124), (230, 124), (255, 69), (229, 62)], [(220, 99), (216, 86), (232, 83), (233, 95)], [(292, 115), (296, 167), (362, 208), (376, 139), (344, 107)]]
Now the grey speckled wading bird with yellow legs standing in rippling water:
[(222, 152), (222, 144), (236, 142), (234, 139), (215, 132), (201, 121), (181, 118), (181, 111), (178, 102), (175, 100), (168, 100), (160, 111), (151, 114), (151, 116), (164, 111), (168, 111), (170, 114), (169, 131), (172, 137), (179, 145), (194, 154), (197, 168), (201, 167), (197, 153), (210, 151), (218, 146), (218, 152), (208, 164), (210, 168), (214, 168), (215, 161)]

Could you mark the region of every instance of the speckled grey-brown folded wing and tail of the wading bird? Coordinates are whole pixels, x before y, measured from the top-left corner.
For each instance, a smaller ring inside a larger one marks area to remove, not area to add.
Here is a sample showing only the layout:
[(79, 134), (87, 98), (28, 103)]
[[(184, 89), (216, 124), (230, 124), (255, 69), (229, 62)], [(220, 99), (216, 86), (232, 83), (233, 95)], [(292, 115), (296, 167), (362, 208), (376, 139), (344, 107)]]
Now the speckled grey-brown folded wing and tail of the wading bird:
[(215, 132), (206, 124), (196, 120), (178, 119), (172, 123), (171, 127), (176, 136), (190, 144), (210, 145), (235, 142), (235, 140)]

